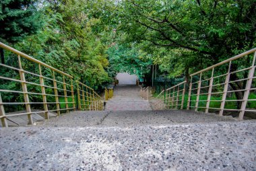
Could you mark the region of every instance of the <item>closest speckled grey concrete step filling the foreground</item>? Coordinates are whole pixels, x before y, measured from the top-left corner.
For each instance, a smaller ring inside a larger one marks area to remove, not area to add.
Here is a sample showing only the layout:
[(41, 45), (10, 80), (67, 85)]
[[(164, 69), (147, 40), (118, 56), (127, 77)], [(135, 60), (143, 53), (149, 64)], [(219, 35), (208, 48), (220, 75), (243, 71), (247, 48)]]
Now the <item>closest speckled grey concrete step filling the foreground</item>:
[(0, 130), (0, 170), (256, 170), (255, 121)]

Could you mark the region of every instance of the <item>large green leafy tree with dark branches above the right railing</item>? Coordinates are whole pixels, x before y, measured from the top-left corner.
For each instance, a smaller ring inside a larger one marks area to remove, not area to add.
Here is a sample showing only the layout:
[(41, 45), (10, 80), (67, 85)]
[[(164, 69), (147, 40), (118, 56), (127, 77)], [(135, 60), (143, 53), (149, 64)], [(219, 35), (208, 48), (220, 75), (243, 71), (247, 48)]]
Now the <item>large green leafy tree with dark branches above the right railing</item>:
[[(127, 34), (127, 41), (148, 42), (149, 49), (153, 46), (158, 51), (158, 46), (172, 51), (174, 56), (168, 56), (172, 65), (168, 67), (175, 75), (188, 75), (256, 45), (255, 0), (125, 0), (118, 3), (113, 15), (118, 18), (113, 19), (117, 30)], [(183, 72), (175, 69), (177, 63)], [(232, 70), (240, 65), (245, 63), (232, 65)], [(231, 84), (234, 90), (243, 85), (245, 81)], [(242, 98), (241, 92), (235, 94)]]

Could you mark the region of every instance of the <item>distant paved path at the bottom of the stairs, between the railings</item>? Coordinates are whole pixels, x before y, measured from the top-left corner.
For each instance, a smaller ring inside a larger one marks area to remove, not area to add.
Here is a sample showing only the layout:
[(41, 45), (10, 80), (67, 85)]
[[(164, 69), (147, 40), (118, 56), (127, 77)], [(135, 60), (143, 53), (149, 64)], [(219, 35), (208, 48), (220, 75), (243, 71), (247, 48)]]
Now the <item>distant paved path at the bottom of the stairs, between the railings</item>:
[(115, 86), (114, 96), (106, 102), (105, 110), (152, 110), (150, 103), (140, 97), (139, 91), (139, 86)]

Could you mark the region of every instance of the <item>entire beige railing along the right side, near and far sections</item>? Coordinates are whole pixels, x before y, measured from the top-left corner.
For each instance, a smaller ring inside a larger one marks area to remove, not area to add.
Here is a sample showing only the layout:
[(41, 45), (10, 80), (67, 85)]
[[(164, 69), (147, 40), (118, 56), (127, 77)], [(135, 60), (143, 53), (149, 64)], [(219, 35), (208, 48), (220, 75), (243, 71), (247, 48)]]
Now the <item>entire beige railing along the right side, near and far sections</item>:
[[(204, 110), (206, 113), (218, 110), (220, 116), (225, 110), (236, 111), (239, 112), (239, 120), (243, 119), (245, 112), (256, 112), (255, 59), (256, 48), (253, 48), (191, 74), (187, 110), (194, 108), (195, 111)], [(180, 88), (182, 85), (183, 88)], [(163, 91), (158, 100), (162, 100), (166, 108), (183, 108), (185, 81), (165, 92), (165, 98)]]

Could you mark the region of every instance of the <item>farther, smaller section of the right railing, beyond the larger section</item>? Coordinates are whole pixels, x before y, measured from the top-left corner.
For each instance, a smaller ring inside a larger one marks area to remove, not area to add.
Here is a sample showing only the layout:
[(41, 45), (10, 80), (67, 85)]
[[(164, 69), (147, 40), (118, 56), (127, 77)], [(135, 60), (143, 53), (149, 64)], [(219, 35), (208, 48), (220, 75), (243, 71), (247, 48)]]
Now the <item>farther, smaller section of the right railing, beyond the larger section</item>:
[(166, 108), (183, 109), (186, 83), (187, 81), (183, 81), (176, 86), (166, 89), (164, 99)]

